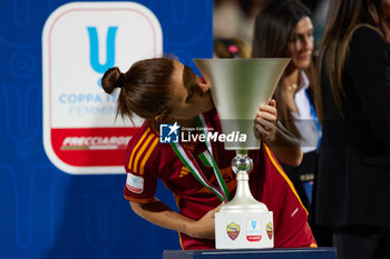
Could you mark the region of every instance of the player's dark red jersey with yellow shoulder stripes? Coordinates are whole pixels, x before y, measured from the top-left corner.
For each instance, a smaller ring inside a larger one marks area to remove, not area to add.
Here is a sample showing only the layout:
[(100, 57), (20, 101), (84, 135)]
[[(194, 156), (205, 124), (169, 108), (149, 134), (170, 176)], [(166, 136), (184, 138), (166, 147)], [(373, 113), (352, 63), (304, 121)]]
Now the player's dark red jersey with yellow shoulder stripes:
[[(215, 110), (204, 114), (207, 126), (221, 131)], [(213, 168), (202, 159), (206, 151), (203, 142), (182, 145), (195, 158), (203, 175), (214, 187), (218, 187)], [(227, 151), (223, 143), (213, 142), (213, 157), (218, 165), (232, 197), (236, 188), (235, 173), (231, 162), (234, 151)], [(271, 150), (263, 143), (262, 149), (250, 151), (254, 166), (250, 173), (250, 187), (255, 199), (265, 203), (274, 216), (275, 247), (310, 247), (315, 240), (308, 226), (308, 212), (296, 191), (277, 163)], [(175, 195), (179, 213), (194, 220), (217, 207), (221, 200), (204, 187), (183, 165), (169, 143), (160, 143), (158, 132), (144, 123), (129, 141), (125, 157), (128, 173), (125, 198), (140, 203), (153, 201), (157, 179)], [(184, 249), (213, 249), (214, 240), (194, 239), (179, 233)]]

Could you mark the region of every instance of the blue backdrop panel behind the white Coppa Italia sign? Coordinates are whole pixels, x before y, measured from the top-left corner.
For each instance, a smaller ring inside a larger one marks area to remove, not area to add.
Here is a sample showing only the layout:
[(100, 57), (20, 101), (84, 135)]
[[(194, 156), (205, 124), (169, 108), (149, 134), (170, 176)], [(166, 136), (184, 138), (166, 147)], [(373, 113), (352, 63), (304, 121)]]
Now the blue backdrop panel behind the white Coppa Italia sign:
[[(42, 145), (41, 33), (64, 0), (0, 1), (0, 259), (160, 258), (178, 237), (137, 217), (125, 175), (71, 176)], [(213, 0), (139, 0), (163, 28), (164, 52), (212, 56)], [(121, 158), (118, 158), (121, 159)], [(175, 207), (164, 185), (160, 199)]]

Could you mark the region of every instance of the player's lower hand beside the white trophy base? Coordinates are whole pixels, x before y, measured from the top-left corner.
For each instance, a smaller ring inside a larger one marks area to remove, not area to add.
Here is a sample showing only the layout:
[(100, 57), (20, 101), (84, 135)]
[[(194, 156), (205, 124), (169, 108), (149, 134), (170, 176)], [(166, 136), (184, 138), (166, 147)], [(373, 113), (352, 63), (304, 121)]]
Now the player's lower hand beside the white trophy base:
[(191, 231), (187, 233), (193, 238), (215, 239), (215, 213), (220, 211), (222, 202), (215, 209), (205, 213), (199, 220), (194, 221)]

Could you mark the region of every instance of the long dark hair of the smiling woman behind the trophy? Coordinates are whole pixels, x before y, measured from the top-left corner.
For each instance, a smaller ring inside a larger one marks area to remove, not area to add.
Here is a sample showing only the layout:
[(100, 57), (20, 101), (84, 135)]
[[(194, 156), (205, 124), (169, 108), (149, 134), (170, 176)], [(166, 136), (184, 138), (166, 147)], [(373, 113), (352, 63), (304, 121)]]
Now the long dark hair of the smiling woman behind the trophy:
[[(298, 22), (311, 17), (310, 10), (298, 0), (271, 1), (256, 17), (252, 43), (253, 58), (287, 58), (287, 43), (293, 40)], [(314, 69), (311, 63), (305, 70), (311, 87), (315, 84)], [(291, 110), (285, 103), (282, 94), (284, 76), (276, 87), (274, 99), (277, 106), (277, 117), (284, 127), (296, 137), (301, 137), (293, 123)]]

